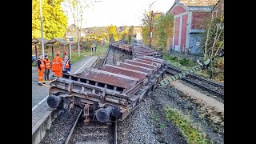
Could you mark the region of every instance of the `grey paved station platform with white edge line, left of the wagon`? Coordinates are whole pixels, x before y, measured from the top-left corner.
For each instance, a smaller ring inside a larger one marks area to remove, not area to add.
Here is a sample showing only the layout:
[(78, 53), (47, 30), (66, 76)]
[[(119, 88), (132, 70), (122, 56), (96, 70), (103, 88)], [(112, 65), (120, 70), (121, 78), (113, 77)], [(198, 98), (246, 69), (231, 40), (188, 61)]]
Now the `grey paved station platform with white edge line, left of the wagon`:
[[(70, 74), (78, 74), (85, 68), (94, 66), (97, 59), (98, 56), (86, 56), (85, 58), (82, 58), (80, 61), (72, 64)], [(50, 72), (50, 76), (52, 74), (53, 72)], [(32, 143), (38, 143), (38, 141), (41, 141), (44, 136), (44, 134), (42, 134), (44, 133), (42, 132), (42, 123), (49, 121), (47, 118), (51, 118), (50, 115), (54, 112), (47, 110), (49, 108), (46, 102), (48, 94), (48, 87), (38, 86), (38, 70), (36, 66), (32, 66)], [(46, 127), (48, 126), (50, 126), (49, 122)], [(39, 135), (35, 133), (38, 133)]]

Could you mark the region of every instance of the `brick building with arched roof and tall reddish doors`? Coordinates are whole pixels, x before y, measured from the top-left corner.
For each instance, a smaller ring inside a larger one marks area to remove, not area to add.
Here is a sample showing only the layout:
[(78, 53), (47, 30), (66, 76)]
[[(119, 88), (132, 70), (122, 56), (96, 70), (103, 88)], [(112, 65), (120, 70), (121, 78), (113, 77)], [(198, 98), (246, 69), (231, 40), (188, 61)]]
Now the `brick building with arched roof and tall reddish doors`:
[(168, 13), (174, 15), (174, 37), (170, 38), (170, 50), (200, 54), (199, 48), (204, 21), (210, 17), (218, 0), (175, 0)]

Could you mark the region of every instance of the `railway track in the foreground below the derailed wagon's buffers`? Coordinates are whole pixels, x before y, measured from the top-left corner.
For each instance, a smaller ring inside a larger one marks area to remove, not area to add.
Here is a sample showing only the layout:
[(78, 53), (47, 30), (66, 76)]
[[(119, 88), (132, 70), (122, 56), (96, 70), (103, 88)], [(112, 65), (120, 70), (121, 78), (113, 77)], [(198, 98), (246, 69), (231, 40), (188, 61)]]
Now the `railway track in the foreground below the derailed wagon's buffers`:
[[(90, 114), (93, 117), (94, 114)], [(65, 144), (117, 144), (117, 122), (98, 122), (96, 119), (85, 124), (82, 110), (74, 122)]]

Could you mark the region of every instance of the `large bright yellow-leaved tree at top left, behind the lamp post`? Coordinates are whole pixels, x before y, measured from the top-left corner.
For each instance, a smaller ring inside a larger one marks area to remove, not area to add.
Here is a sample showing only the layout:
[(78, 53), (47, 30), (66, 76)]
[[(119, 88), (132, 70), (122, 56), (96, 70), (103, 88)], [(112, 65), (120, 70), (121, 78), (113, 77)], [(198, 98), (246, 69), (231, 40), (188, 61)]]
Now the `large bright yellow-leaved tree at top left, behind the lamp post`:
[[(67, 18), (61, 3), (63, 0), (42, 1), (42, 25), (44, 38), (64, 38)], [(41, 38), (40, 1), (32, 1), (32, 38)]]

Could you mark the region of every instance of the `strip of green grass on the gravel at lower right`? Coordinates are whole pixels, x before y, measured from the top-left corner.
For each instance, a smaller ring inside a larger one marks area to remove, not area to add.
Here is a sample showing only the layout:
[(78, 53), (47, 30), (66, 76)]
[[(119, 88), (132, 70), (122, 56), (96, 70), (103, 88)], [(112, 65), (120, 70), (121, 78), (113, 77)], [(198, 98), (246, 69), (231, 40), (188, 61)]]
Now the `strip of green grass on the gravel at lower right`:
[(174, 122), (178, 129), (181, 131), (184, 138), (188, 144), (210, 144), (211, 142), (203, 137), (198, 130), (190, 122), (188, 116), (184, 116), (178, 110), (170, 107), (166, 107), (166, 119), (168, 121)]

